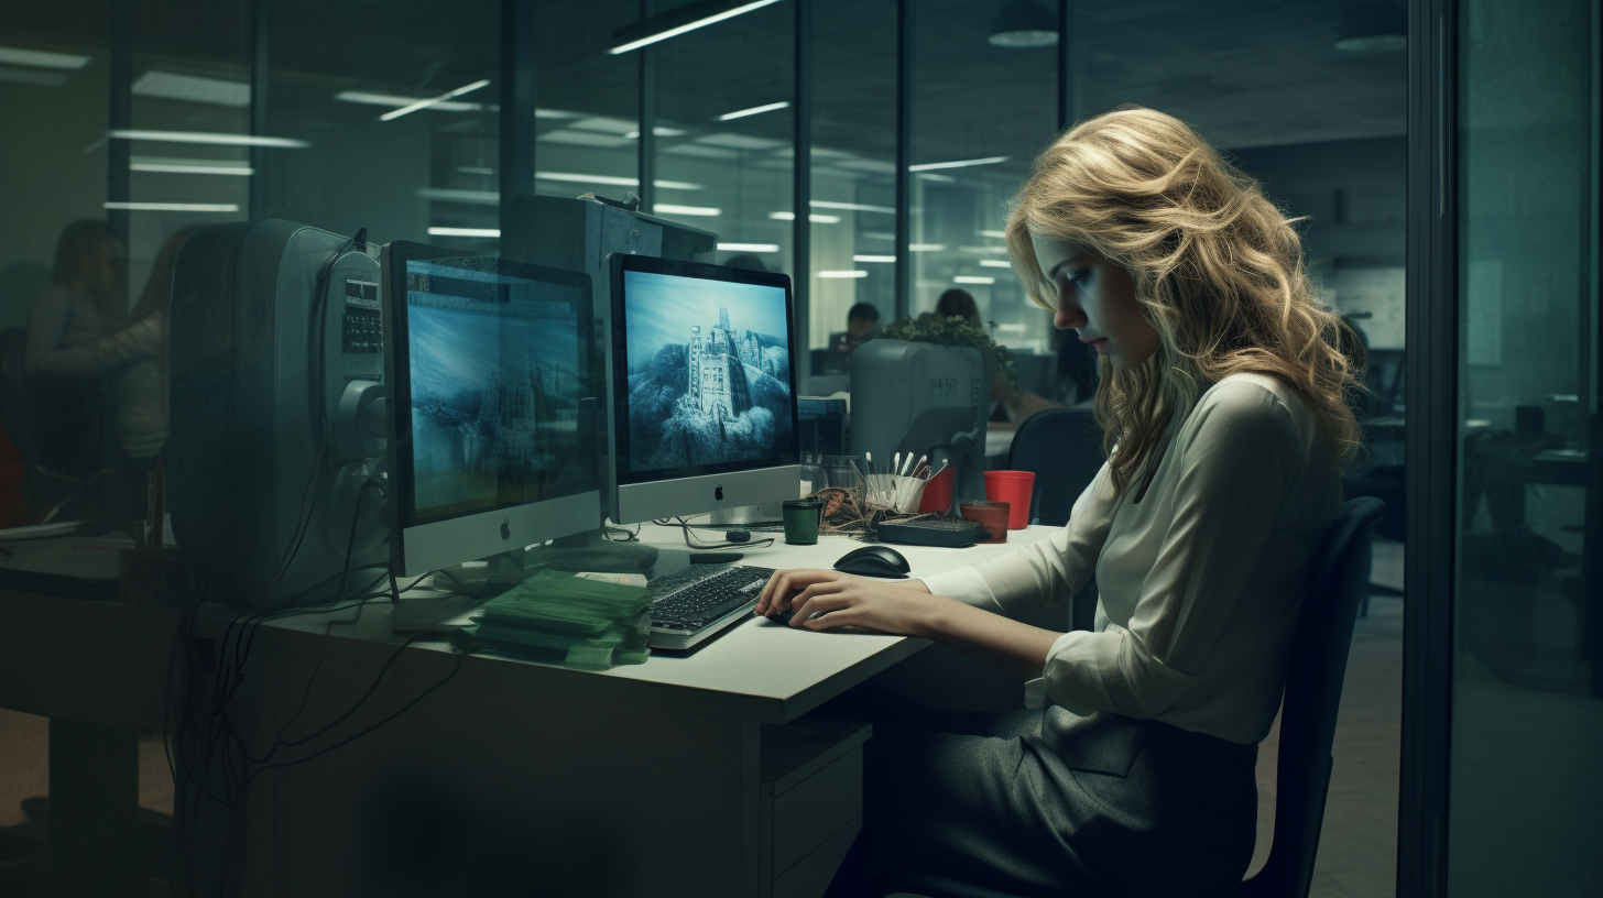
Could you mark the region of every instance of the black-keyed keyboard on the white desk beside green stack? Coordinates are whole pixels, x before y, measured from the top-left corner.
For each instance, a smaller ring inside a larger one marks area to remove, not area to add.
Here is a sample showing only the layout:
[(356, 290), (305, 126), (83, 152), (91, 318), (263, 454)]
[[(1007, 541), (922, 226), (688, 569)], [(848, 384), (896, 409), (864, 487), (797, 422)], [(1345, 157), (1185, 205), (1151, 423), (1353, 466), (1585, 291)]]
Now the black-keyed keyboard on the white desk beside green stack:
[[(702, 569), (697, 569), (702, 568)], [(725, 632), (757, 606), (773, 568), (726, 564), (652, 580), (651, 648), (686, 649)]]

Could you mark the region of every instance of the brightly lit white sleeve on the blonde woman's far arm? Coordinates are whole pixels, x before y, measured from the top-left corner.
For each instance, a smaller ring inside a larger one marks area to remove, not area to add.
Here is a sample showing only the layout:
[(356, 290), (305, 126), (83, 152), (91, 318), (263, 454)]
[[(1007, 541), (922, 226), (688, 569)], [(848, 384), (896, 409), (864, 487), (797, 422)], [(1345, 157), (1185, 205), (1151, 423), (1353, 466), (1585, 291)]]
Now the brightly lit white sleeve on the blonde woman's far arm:
[(1117, 505), (1112, 476), (1103, 465), (1061, 531), (1000, 558), (923, 577), (923, 585), (935, 595), (1003, 614), (1061, 605), (1092, 579)]

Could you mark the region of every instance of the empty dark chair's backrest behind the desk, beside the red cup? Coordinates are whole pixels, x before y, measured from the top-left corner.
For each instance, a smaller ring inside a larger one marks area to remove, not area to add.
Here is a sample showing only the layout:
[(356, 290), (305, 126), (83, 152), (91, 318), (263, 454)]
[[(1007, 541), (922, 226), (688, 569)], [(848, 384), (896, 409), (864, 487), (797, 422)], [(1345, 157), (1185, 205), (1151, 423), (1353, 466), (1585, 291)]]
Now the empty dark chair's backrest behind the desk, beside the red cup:
[(1074, 500), (1103, 462), (1101, 427), (1085, 407), (1036, 412), (1020, 425), (1007, 455), (1010, 471), (1036, 471), (1029, 520), (1052, 526), (1069, 523)]

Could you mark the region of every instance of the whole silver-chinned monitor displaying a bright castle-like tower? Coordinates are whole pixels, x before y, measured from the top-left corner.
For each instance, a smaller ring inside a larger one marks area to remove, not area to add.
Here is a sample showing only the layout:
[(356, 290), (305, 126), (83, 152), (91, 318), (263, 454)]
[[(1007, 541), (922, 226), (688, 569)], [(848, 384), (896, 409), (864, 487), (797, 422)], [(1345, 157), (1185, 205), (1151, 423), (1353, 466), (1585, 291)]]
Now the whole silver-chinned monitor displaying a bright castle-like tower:
[(790, 277), (612, 255), (620, 524), (795, 499)]

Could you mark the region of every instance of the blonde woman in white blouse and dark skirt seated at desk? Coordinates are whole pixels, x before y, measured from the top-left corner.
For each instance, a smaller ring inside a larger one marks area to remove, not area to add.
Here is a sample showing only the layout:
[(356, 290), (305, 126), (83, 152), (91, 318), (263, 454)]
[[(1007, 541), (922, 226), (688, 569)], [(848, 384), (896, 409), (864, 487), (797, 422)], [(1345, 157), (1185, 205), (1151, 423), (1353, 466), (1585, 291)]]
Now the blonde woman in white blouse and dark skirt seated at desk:
[[(1044, 678), (1050, 704), (842, 699), (875, 734), (864, 831), (834, 892), (875, 866), (1020, 895), (1226, 892), (1252, 858), (1257, 744), (1358, 447), (1356, 340), (1258, 186), (1149, 109), (1047, 148), (1007, 241), (1029, 295), (1100, 356), (1109, 460), (1069, 524), (906, 584), (781, 571), (757, 613), (931, 638)], [(1095, 632), (1008, 617), (1093, 576)]]

